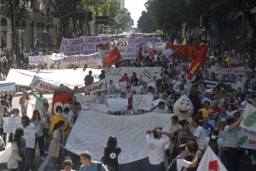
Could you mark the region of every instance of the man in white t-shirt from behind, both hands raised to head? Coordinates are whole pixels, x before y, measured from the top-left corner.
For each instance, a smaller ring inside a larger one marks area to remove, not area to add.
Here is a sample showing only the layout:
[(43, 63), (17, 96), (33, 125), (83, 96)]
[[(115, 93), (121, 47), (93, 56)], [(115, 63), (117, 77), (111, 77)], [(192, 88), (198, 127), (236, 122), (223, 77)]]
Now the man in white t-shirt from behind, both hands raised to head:
[[(152, 133), (154, 134), (154, 137), (151, 136)], [(160, 139), (162, 134), (168, 137)], [(150, 165), (148, 170), (165, 171), (164, 146), (172, 141), (173, 137), (173, 134), (163, 132), (162, 127), (156, 127), (154, 130), (148, 130), (146, 132), (146, 142), (148, 148), (150, 148), (150, 153), (148, 155)]]

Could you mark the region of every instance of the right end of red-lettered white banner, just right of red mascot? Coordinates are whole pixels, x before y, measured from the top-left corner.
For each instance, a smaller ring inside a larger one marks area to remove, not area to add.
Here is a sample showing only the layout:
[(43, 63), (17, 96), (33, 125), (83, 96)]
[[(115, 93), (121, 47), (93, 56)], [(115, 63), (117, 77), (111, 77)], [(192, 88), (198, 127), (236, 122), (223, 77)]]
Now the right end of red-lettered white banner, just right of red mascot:
[(105, 90), (106, 90), (106, 81), (105, 79), (101, 79), (85, 87), (79, 88), (78, 90), (76, 90), (76, 93), (91, 93), (91, 92), (98, 92), (98, 91), (105, 91)]

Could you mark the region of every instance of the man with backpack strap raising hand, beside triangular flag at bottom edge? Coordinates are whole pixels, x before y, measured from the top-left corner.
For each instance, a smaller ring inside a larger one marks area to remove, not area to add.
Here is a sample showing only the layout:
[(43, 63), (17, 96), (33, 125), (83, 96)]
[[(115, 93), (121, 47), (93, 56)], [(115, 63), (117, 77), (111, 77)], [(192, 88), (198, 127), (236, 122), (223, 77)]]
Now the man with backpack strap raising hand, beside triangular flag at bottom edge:
[(177, 171), (186, 171), (188, 167), (196, 167), (197, 166), (197, 162), (200, 158), (201, 152), (200, 150), (197, 151), (197, 154), (195, 155), (194, 159), (189, 162), (186, 161), (184, 158), (187, 156), (187, 147), (186, 144), (181, 144), (178, 146), (178, 153), (179, 155), (176, 158), (176, 162), (177, 162)]

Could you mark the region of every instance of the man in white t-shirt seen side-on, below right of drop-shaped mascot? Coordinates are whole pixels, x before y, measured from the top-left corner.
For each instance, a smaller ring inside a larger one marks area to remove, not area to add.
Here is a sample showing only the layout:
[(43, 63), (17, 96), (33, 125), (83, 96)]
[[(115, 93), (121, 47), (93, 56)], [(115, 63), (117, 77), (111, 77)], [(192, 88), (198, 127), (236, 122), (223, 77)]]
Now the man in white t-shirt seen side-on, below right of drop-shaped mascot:
[(201, 149), (202, 153), (204, 153), (204, 151), (205, 151), (204, 141), (205, 141), (205, 138), (207, 137), (207, 134), (206, 134), (205, 130), (203, 129), (203, 127), (199, 125), (198, 119), (193, 118), (191, 121), (191, 125), (193, 127), (195, 127), (193, 138), (194, 138), (194, 140), (197, 140), (198, 148)]

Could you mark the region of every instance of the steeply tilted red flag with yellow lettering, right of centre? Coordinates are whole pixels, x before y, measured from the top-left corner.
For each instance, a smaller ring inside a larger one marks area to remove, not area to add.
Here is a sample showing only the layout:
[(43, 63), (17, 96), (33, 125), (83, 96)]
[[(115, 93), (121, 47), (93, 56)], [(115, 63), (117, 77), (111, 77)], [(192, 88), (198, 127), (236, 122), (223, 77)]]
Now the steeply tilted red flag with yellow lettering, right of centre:
[(206, 50), (207, 50), (207, 46), (204, 46), (204, 48), (201, 49), (200, 53), (197, 55), (196, 59), (193, 61), (192, 65), (190, 66), (190, 68), (188, 70), (188, 73), (187, 73), (188, 74), (188, 79), (192, 79), (195, 72), (197, 71), (198, 67), (205, 64)]

